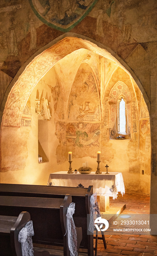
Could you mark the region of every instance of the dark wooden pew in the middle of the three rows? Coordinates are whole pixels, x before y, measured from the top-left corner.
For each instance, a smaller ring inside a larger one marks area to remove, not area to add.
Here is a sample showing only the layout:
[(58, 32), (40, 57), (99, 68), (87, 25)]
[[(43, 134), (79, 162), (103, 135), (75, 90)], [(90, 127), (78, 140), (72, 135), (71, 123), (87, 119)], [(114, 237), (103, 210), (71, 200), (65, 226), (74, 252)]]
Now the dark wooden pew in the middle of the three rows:
[[(63, 238), (62, 230), (65, 229), (66, 211), (71, 202), (71, 195), (66, 195), (64, 199), (0, 196), (0, 215), (18, 216), (21, 211), (30, 212), (34, 226), (33, 242), (63, 246), (64, 256), (70, 256), (67, 248), (67, 236)], [(79, 237), (78, 240), (79, 246), (81, 242)]]

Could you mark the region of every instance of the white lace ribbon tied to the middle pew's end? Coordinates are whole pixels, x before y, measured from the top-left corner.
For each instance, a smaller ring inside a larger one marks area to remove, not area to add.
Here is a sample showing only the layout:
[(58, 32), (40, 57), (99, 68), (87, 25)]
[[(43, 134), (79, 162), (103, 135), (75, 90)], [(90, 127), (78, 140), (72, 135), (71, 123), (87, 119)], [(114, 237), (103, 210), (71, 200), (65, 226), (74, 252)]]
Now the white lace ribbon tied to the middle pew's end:
[[(68, 248), (70, 251), (70, 256), (78, 256), (77, 252), (77, 234), (76, 227), (72, 215), (75, 212), (75, 203), (71, 203), (67, 208), (67, 240), (68, 240)], [(66, 235), (65, 233), (65, 235)], [(65, 236), (64, 235), (64, 236)]]

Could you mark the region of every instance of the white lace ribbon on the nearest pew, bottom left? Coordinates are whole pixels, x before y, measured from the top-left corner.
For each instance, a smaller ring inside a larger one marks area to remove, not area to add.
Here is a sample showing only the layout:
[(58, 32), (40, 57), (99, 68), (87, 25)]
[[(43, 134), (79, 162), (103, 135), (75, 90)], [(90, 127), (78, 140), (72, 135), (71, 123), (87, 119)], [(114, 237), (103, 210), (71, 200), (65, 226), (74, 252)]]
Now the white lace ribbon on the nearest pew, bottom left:
[(28, 221), (19, 232), (19, 242), (21, 243), (22, 256), (33, 256), (32, 236), (34, 236), (33, 222)]

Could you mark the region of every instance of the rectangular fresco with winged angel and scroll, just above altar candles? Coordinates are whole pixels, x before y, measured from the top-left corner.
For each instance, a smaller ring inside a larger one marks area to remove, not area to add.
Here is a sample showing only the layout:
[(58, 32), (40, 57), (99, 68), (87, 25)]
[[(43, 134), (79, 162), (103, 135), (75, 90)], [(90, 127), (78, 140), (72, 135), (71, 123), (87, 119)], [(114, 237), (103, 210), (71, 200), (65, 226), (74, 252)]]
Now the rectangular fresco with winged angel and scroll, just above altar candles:
[[(96, 157), (96, 150), (100, 146), (100, 124), (56, 122), (55, 135), (59, 140), (56, 148), (58, 163), (66, 161), (68, 151), (72, 150), (74, 158), (86, 156)], [(83, 150), (82, 150), (83, 148)], [(90, 151), (89, 151), (90, 148)]]

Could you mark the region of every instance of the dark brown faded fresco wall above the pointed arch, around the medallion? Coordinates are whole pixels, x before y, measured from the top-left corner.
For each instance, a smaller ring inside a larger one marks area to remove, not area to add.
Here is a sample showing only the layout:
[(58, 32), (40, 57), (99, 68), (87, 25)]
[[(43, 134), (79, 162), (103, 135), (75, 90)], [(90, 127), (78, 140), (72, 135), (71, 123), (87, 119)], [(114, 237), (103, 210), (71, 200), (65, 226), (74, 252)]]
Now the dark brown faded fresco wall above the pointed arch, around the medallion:
[[(72, 32), (107, 45), (123, 59), (137, 45), (146, 53), (149, 47), (153, 47), (150, 42), (157, 40), (156, 5), (155, 0), (30, 0), (30, 3), (19, 0), (18, 4), (15, 0), (1, 1), (1, 70), (13, 78), (32, 53), (62, 34), (58, 29), (66, 32), (73, 26)], [(70, 20), (75, 15), (78, 17), (72, 20), (71, 25)], [(51, 24), (51, 18), (56, 25)], [(55, 26), (55, 29), (42, 22)], [(141, 29), (145, 33), (141, 33)]]

